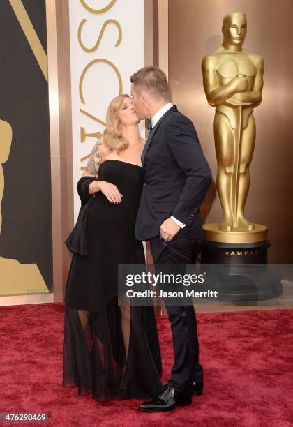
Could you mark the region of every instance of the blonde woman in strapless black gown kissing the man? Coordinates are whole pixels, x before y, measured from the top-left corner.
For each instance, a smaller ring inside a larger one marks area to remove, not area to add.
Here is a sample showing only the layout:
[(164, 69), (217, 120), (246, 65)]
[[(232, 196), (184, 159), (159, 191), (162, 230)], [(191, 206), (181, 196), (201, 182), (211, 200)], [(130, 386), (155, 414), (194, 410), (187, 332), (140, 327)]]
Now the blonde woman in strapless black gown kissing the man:
[(73, 254), (65, 297), (63, 386), (96, 400), (156, 396), (160, 350), (152, 306), (119, 306), (117, 265), (144, 264), (135, 218), (144, 140), (128, 95), (114, 98), (107, 128), (77, 190), (88, 204), (87, 247)]

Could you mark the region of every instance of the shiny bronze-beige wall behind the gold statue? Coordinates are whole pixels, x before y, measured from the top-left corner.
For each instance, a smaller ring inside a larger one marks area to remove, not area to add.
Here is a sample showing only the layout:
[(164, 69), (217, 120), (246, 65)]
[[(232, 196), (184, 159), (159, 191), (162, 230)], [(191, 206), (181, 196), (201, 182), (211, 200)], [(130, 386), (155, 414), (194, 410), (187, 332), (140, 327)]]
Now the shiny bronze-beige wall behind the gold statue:
[(173, 102), (193, 120), (213, 174), (202, 213), (206, 223), (221, 219), (216, 196), (213, 115), (202, 87), (201, 61), (222, 43), (225, 13), (248, 18), (244, 47), (265, 61), (262, 104), (255, 110), (257, 140), (250, 166), (246, 216), (269, 227), (269, 262), (293, 261), (293, 54), (292, 0), (170, 0), (169, 78)]

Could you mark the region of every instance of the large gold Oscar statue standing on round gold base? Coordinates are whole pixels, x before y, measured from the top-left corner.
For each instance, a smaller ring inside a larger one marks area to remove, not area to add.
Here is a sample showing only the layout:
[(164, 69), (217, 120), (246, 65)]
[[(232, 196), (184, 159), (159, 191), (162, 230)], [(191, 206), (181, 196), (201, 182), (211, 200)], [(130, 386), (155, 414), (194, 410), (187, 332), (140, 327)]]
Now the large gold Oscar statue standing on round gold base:
[(244, 216), (255, 147), (253, 110), (262, 102), (264, 84), (264, 60), (243, 49), (246, 31), (245, 13), (228, 13), (223, 19), (222, 45), (202, 60), (204, 91), (216, 109), (216, 189), (223, 209), (221, 223), (204, 225), (207, 241), (253, 243), (267, 237), (265, 225)]

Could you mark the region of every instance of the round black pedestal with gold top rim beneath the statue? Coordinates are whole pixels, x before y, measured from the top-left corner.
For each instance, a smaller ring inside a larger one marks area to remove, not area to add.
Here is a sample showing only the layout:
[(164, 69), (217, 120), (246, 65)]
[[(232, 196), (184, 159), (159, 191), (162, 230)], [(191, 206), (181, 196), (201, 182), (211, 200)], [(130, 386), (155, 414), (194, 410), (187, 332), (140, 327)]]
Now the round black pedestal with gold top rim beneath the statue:
[[(204, 225), (201, 263), (227, 267), (223, 270), (207, 267), (207, 271), (210, 270), (207, 276), (209, 285), (218, 292), (218, 299), (243, 302), (280, 296), (283, 293), (281, 277), (266, 269), (267, 249), (271, 246), (266, 239), (267, 227), (257, 225), (252, 231), (222, 232), (216, 230), (216, 226)], [(262, 240), (255, 241), (260, 237)], [(221, 238), (224, 241), (219, 241)], [(246, 239), (245, 243), (241, 243), (241, 239)], [(255, 264), (255, 267), (251, 264)]]

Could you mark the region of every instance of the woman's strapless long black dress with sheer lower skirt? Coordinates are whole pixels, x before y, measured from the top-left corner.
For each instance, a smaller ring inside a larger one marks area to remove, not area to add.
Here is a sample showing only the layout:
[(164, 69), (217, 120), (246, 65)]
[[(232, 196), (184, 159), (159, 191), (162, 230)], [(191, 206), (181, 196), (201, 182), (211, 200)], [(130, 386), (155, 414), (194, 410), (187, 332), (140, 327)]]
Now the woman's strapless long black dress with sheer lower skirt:
[(105, 160), (98, 180), (114, 183), (123, 197), (112, 204), (98, 192), (89, 204), (88, 255), (73, 255), (66, 285), (63, 385), (97, 400), (153, 397), (161, 387), (153, 307), (130, 306), (126, 357), (117, 301), (118, 264), (145, 262), (134, 232), (142, 168)]

